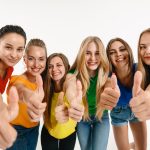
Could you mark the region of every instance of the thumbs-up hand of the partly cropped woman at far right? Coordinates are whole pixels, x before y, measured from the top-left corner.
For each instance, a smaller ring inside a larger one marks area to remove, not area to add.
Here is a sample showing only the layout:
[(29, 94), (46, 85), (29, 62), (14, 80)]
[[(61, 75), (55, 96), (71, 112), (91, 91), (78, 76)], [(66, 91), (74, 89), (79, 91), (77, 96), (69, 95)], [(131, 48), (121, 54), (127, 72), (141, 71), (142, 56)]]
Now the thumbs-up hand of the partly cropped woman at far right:
[(137, 71), (134, 75), (133, 98), (130, 100), (130, 107), (135, 116), (141, 120), (150, 119), (150, 90), (141, 88), (142, 73)]

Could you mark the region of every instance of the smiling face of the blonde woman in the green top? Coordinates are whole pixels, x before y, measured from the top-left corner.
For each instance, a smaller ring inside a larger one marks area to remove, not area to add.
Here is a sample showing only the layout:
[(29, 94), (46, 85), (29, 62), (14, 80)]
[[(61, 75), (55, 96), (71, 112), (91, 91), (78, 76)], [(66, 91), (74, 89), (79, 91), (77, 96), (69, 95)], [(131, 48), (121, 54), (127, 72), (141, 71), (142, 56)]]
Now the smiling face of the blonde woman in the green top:
[(85, 54), (85, 63), (90, 75), (94, 75), (100, 65), (100, 53), (94, 42), (91, 42), (88, 45)]

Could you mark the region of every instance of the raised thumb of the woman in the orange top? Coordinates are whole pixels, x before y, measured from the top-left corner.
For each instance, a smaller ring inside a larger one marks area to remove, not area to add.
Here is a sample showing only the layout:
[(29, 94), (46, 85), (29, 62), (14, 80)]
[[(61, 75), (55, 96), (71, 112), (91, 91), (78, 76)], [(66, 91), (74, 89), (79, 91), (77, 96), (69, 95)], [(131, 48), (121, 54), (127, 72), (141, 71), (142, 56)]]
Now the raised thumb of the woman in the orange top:
[(39, 94), (39, 98), (41, 99), (41, 101), (44, 98), (44, 90), (43, 90), (43, 80), (41, 75), (37, 75), (36, 76), (36, 84), (37, 84), (37, 93)]

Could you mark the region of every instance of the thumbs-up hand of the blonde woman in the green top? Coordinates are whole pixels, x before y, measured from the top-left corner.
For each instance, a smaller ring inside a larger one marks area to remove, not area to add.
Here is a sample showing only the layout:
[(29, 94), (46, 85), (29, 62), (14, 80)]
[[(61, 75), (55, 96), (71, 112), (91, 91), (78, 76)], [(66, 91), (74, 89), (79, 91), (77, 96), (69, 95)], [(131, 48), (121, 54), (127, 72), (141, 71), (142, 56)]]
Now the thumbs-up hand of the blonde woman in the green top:
[[(70, 91), (74, 93), (75, 91)], [(84, 114), (84, 106), (82, 104), (82, 84), (79, 80), (76, 82), (76, 95), (72, 97), (69, 108), (69, 117), (80, 122)]]

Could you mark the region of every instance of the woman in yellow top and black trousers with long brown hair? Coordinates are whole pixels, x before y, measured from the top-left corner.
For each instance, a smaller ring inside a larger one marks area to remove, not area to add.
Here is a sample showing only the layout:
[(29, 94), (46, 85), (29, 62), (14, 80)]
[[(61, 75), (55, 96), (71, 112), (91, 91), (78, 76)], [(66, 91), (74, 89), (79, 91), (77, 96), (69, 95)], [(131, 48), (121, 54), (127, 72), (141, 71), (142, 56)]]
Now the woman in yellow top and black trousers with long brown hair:
[(57, 105), (63, 105), (62, 109), (68, 114), (68, 100), (65, 96), (59, 100), (59, 94), (62, 95), (61, 91), (63, 91), (63, 84), (69, 68), (68, 59), (61, 53), (53, 53), (47, 59), (44, 78), (44, 101), (47, 103), (47, 108), (44, 113), (44, 126), (41, 133), (43, 150), (73, 150), (75, 146), (76, 122), (66, 116), (65, 123), (62, 124), (55, 117)]

